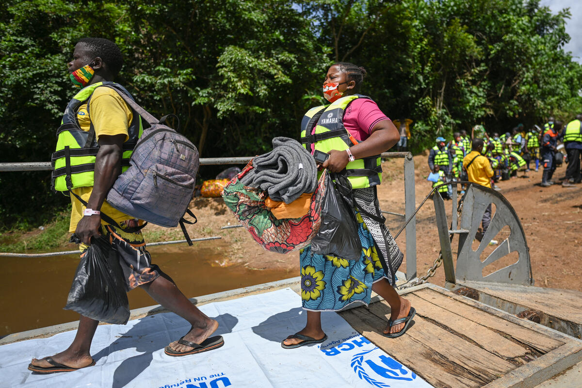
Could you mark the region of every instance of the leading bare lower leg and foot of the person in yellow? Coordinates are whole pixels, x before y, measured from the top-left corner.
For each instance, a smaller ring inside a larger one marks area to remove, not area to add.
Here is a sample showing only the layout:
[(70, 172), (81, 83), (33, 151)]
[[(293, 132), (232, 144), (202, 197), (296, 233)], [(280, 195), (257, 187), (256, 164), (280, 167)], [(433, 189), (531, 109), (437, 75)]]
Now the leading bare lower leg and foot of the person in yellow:
[[(98, 324), (99, 321), (81, 315), (81, 318), (79, 319), (79, 329), (77, 329), (77, 334), (74, 337), (73, 343), (70, 344), (65, 351), (52, 356), (52, 359), (59, 364), (70, 366), (72, 368), (83, 368), (84, 366), (91, 364), (91, 362), (93, 362), (90, 353), (91, 341), (93, 341), (93, 335), (95, 334), (95, 329), (97, 329)], [(33, 358), (31, 364), (43, 368), (54, 366), (49, 364), (44, 358)]]

